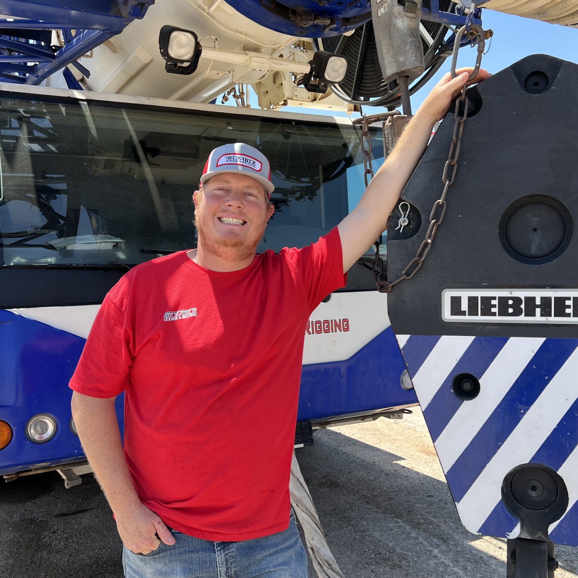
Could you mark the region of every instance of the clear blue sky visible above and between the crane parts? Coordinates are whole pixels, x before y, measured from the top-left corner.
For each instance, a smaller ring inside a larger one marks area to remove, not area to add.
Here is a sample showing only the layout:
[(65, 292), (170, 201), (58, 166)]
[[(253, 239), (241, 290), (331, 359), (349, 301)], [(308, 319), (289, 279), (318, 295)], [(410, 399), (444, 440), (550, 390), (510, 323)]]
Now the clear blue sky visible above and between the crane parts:
[[(529, 54), (549, 54), (564, 60), (578, 62), (578, 29), (555, 24), (547, 24), (530, 18), (510, 16), (483, 10), (484, 28), (494, 31), (490, 50), (483, 57), (482, 66), (495, 73), (517, 62)], [(486, 50), (489, 41), (486, 43)], [(476, 61), (476, 49), (465, 47), (458, 55), (458, 66), (473, 66)], [(415, 111), (429, 90), (450, 70), (450, 58), (442, 65), (432, 79), (412, 97), (412, 109)], [(254, 98), (254, 100), (253, 100)], [(231, 99), (232, 100), (232, 99)], [(219, 100), (217, 101), (219, 102)], [(257, 96), (251, 94), (251, 102), (257, 102)], [(234, 104), (234, 102), (232, 102)], [(331, 116), (346, 116), (346, 113), (306, 109), (287, 106), (284, 112), (300, 112), (312, 114), (329, 114)], [(380, 108), (365, 109), (366, 113), (377, 113)], [(355, 114), (357, 116), (357, 114)]]

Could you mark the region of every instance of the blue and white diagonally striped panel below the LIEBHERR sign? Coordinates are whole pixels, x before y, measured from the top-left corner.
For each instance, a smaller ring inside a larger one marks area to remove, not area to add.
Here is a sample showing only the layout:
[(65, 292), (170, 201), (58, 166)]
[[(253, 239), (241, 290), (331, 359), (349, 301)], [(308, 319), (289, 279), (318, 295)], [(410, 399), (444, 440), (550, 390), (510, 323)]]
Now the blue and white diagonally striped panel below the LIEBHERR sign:
[[(569, 505), (550, 539), (578, 546), (578, 339), (398, 335), (418, 401), (465, 527), (516, 538), (502, 480), (534, 462), (557, 471)], [(475, 399), (451, 391), (458, 373)]]

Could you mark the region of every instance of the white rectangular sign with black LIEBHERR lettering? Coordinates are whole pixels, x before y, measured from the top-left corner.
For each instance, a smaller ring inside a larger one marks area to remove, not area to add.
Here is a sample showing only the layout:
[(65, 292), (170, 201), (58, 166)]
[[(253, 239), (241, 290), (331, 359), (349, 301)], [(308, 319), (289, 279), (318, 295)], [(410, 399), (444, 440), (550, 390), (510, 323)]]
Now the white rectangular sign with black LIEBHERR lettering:
[(442, 319), (458, 323), (578, 325), (578, 288), (444, 289)]

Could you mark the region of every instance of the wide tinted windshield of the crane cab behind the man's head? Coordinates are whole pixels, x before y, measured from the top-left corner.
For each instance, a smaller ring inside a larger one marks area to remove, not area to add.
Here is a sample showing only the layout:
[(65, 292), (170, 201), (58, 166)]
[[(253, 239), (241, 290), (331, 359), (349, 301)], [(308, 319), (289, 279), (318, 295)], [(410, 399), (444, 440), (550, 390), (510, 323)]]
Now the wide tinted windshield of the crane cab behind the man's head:
[[(275, 213), (258, 252), (315, 242), (363, 192), (358, 134), (330, 117), (5, 96), (0, 135), (3, 266), (132, 266), (194, 249), (191, 196), (225, 143), (271, 162)], [(376, 132), (378, 156), (380, 140)]]

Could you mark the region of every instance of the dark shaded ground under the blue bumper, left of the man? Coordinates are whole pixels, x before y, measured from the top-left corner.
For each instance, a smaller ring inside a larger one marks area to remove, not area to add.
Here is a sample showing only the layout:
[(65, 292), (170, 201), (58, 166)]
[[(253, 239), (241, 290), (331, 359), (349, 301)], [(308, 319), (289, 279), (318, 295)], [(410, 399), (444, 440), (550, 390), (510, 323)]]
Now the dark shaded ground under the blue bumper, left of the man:
[(2, 578), (123, 576), (110, 508), (94, 477), (82, 479), (70, 490), (56, 472), (0, 486)]

